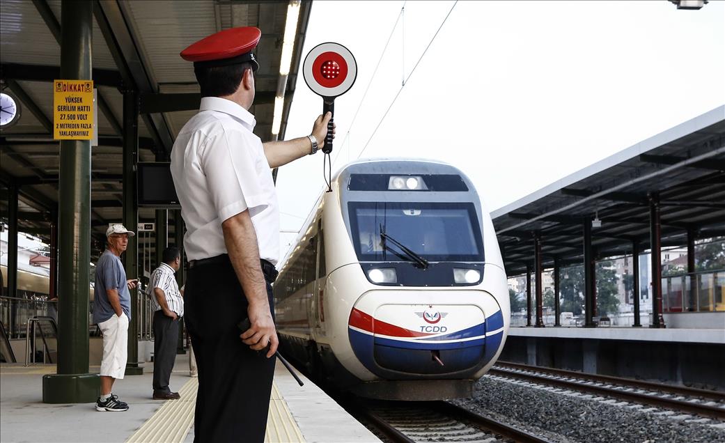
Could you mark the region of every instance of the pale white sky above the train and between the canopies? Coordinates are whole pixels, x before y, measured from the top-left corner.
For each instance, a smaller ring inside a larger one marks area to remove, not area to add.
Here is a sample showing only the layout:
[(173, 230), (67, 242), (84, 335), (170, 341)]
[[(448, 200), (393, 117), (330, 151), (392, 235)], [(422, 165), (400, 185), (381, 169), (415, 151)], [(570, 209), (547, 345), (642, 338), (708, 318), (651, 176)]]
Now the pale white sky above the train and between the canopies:
[[(442, 160), (489, 212), (725, 104), (724, 1), (315, 1), (302, 59), (326, 41), (357, 61), (333, 175), (357, 158)], [(299, 75), (285, 138), (321, 112)], [(322, 154), (277, 186), (284, 256), (325, 186)]]

